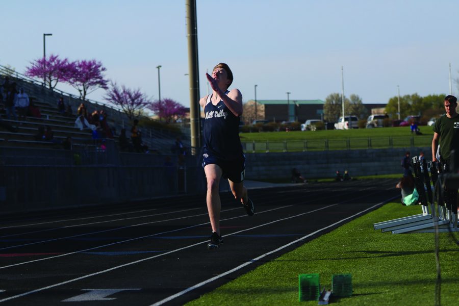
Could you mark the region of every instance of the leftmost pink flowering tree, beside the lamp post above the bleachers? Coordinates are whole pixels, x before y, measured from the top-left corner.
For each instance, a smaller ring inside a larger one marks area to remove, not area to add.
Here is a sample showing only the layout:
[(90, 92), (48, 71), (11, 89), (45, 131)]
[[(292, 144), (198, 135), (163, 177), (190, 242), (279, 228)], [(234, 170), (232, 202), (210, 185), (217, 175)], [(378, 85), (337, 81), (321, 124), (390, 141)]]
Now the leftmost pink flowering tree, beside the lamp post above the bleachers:
[(54, 89), (59, 81), (67, 79), (71, 68), (71, 63), (67, 59), (52, 54), (48, 58), (39, 58), (31, 62), (31, 66), (26, 68), (25, 75), (31, 78), (43, 78), (45, 85)]

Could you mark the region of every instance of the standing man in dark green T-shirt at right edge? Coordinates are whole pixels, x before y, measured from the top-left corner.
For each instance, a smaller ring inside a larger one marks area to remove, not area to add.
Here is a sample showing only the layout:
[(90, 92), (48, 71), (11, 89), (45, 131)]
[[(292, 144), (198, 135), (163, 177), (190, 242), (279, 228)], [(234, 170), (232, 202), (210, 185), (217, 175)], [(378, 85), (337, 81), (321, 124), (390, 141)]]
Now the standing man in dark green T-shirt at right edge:
[[(457, 98), (447, 95), (443, 102), (446, 114), (441, 116), (433, 125), (432, 161), (437, 160), (437, 149), (440, 143), (440, 166), (450, 170), (451, 150), (459, 154), (459, 114), (456, 112)], [(453, 212), (457, 210), (457, 188), (446, 190), (446, 203)]]

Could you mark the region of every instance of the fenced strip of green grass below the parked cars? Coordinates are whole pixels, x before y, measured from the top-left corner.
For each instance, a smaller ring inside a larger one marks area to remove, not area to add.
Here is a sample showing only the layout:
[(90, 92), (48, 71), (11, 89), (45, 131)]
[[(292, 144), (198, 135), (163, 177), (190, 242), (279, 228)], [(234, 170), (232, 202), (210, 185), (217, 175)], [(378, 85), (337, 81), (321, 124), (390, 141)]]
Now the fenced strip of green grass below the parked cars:
[(423, 135), (410, 127), (378, 129), (240, 133), (246, 152), (308, 151), (430, 146), (431, 126), (420, 126)]

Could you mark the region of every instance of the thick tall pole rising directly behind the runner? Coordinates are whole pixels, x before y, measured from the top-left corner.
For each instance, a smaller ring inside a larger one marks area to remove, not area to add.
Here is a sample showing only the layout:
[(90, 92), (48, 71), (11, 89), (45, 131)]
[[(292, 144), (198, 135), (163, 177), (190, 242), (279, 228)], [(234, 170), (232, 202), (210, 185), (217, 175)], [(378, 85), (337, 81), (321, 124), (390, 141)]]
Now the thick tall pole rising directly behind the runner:
[(201, 146), (196, 0), (186, 0), (185, 6), (187, 10), (188, 69), (190, 74), (191, 154), (196, 155), (196, 148)]

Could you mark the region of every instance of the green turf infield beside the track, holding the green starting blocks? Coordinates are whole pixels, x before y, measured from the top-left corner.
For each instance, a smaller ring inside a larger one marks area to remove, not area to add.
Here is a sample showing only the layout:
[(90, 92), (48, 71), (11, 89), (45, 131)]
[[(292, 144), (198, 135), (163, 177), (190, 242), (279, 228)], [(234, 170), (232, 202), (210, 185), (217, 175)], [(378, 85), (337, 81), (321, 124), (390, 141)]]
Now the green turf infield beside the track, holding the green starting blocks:
[[(317, 305), (298, 301), (298, 274), (319, 273), (330, 288), (331, 275), (352, 274), (353, 295), (332, 299), (341, 305), (434, 305), (434, 234), (392, 235), (373, 223), (421, 212), (419, 206), (385, 206), (355, 219), (242, 275), (187, 305)], [(457, 239), (459, 233), (455, 233)], [(459, 248), (440, 234), (441, 304), (459, 300)]]

